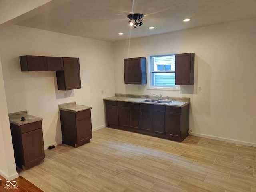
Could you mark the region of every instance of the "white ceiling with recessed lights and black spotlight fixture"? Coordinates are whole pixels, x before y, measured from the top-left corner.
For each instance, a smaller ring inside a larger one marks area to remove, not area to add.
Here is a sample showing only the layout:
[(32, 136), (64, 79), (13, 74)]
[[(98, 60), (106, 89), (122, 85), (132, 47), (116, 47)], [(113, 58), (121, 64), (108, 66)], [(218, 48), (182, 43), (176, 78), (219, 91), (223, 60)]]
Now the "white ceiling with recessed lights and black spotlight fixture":
[[(117, 41), (255, 18), (255, 8), (256, 0), (71, 0), (18, 25)], [(144, 14), (142, 26), (128, 25), (131, 13)]]

